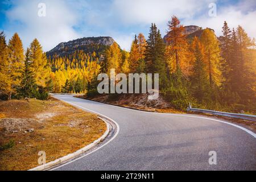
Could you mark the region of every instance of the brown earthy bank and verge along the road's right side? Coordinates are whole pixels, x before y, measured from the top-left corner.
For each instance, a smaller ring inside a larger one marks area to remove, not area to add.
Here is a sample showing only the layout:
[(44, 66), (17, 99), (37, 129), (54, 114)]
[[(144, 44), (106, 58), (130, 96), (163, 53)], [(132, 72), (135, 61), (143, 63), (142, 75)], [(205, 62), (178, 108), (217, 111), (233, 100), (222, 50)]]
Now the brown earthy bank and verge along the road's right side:
[[(116, 106), (127, 107), (130, 109), (139, 109), (144, 111), (158, 112), (158, 113), (179, 113), (186, 114), (187, 112), (174, 109), (171, 107), (163, 98), (159, 97), (158, 100), (149, 101), (146, 94), (121, 94), (121, 95), (112, 95), (109, 97), (108, 94), (102, 94), (96, 97), (86, 97), (86, 96), (75, 96), (79, 98), (84, 98), (87, 100), (97, 101), (105, 104), (111, 104)], [(190, 113), (193, 114), (193, 113)], [(256, 133), (256, 122), (248, 121), (246, 119), (237, 119), (229, 117), (221, 117), (212, 114), (202, 114), (195, 113), (197, 115), (207, 116), (215, 119), (221, 119), (240, 125)]]

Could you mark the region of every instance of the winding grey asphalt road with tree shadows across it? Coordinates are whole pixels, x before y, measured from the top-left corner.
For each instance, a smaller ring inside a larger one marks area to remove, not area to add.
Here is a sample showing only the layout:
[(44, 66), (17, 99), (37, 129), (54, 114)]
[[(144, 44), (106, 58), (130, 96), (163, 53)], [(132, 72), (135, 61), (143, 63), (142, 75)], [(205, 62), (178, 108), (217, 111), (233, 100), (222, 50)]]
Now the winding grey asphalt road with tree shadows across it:
[[(104, 147), (55, 170), (256, 170), (255, 134), (236, 126), (199, 115), (149, 113), (54, 97), (104, 114), (119, 125), (117, 136)], [(209, 164), (209, 151), (216, 151), (216, 165)]]

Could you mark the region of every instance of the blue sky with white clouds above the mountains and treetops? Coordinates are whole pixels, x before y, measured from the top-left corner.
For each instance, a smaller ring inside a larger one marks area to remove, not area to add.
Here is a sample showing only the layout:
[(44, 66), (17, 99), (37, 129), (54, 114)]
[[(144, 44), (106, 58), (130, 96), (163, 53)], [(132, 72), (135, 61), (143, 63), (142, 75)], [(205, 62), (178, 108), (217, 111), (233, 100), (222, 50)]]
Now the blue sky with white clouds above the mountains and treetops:
[[(39, 3), (46, 5), (46, 16), (38, 16)], [(216, 15), (209, 16), (209, 4), (216, 4)], [(226, 20), (230, 27), (240, 24), (256, 38), (256, 1), (217, 0), (2, 0), (0, 30), (7, 39), (18, 32), (24, 48), (38, 38), (44, 51), (60, 42), (87, 37), (112, 36), (126, 50), (135, 34), (146, 37), (151, 23), (166, 34), (172, 15), (181, 23), (213, 28), (221, 35)]]

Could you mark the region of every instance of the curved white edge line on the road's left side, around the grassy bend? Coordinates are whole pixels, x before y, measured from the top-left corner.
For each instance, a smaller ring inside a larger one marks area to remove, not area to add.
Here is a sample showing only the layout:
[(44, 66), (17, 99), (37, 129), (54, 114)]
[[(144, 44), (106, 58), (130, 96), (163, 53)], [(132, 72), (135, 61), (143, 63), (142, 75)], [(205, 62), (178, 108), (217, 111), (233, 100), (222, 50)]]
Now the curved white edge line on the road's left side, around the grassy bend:
[[(63, 100), (61, 100), (61, 101), (63, 101)], [(114, 135), (110, 140), (108, 140), (108, 142), (106, 142), (106, 143), (102, 144), (102, 146), (100, 146), (100, 147), (96, 148), (96, 150), (93, 150), (93, 151), (89, 152), (88, 154), (85, 154), (85, 155), (83, 155), (83, 156), (81, 156), (81, 157), (79, 157), (79, 158), (76, 158), (76, 159), (74, 159), (74, 160), (71, 160), (71, 161), (70, 161), (70, 162), (68, 162), (68, 163), (61, 164), (60, 166), (57, 166), (57, 167), (55, 167), (55, 168), (52, 168), (52, 169), (50, 169), (49, 171), (53, 171), (53, 170), (55, 170), (55, 169), (57, 169), (57, 168), (60, 168), (60, 167), (66, 166), (67, 164), (70, 164), (70, 163), (72, 163), (72, 162), (75, 162), (76, 160), (82, 159), (82, 158), (84, 158), (85, 156), (87, 156), (87, 155), (89, 155), (89, 154), (92, 154), (93, 152), (95, 152), (95, 151), (99, 150), (100, 148), (104, 147), (106, 144), (108, 144), (109, 142), (111, 142), (115, 137), (117, 137), (117, 135), (118, 135), (118, 133), (119, 133), (119, 125), (118, 125), (118, 123), (117, 123), (117, 122), (115, 122), (113, 119), (111, 119), (111, 118), (107, 117), (106, 115), (103, 115), (103, 114), (97, 113), (96, 111), (93, 111), (93, 110), (90, 110), (90, 109), (86, 109), (85, 107), (82, 107), (82, 106), (79, 106), (79, 105), (73, 104), (73, 103), (68, 102), (68, 101), (63, 101), (63, 102), (67, 102), (67, 103), (68, 103), (68, 104), (70, 104), (70, 105), (73, 105), (73, 106), (76, 106), (76, 107), (80, 107), (81, 109), (87, 110), (87, 111), (89, 111), (89, 112), (92, 112), (92, 113), (98, 114), (98, 115), (100, 115), (100, 116), (102, 116), (102, 117), (105, 117), (105, 118), (109, 119), (110, 121), (112, 121), (113, 123), (115, 123), (115, 125), (117, 126), (117, 132), (115, 133), (115, 135)]]

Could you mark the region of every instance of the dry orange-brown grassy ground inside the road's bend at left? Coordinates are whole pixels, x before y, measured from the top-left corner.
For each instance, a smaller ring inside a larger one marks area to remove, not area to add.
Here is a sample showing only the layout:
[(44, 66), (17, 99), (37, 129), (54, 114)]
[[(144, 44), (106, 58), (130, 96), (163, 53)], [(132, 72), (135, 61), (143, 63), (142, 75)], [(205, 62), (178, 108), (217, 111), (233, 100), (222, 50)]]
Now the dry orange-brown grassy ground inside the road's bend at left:
[(0, 102), (0, 170), (27, 170), (71, 154), (105, 133), (97, 115), (55, 98)]

